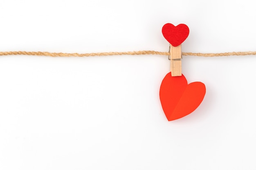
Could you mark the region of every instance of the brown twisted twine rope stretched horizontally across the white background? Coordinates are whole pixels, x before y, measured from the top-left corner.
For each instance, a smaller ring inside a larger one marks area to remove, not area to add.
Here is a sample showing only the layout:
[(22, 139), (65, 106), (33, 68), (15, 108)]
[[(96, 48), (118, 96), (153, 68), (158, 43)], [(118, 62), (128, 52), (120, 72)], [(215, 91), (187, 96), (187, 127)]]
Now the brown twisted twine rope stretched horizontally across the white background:
[[(159, 51), (133, 51), (133, 52), (97, 52), (97, 53), (56, 53), (56, 52), (27, 52), (27, 51), (10, 51), (0, 52), (0, 55), (38, 55), (38, 56), (51, 56), (51, 57), (89, 57), (89, 56), (110, 56), (110, 55), (170, 55), (170, 52)], [(219, 56), (231, 56), (231, 55), (256, 55), (256, 52), (225, 52), (225, 53), (193, 53), (182, 52), (184, 56), (201, 56), (201, 57), (219, 57)]]

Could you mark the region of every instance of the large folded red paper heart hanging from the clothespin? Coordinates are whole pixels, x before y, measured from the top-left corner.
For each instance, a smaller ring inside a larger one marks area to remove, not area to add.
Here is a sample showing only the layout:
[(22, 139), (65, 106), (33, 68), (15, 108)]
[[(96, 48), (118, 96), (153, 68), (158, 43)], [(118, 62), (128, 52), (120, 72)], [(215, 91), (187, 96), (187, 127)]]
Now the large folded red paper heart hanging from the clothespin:
[(160, 87), (160, 101), (168, 121), (182, 118), (192, 113), (202, 102), (206, 89), (204, 83), (188, 85), (185, 76), (166, 74)]

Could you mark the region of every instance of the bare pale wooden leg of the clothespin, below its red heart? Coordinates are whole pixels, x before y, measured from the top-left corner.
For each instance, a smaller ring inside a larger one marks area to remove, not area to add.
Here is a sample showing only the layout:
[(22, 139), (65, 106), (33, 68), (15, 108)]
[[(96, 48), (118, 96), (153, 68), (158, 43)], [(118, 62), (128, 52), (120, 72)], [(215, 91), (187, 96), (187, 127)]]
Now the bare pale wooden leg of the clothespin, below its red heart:
[(181, 44), (179, 46), (170, 45), (170, 55), (171, 55), (171, 75), (181, 76)]

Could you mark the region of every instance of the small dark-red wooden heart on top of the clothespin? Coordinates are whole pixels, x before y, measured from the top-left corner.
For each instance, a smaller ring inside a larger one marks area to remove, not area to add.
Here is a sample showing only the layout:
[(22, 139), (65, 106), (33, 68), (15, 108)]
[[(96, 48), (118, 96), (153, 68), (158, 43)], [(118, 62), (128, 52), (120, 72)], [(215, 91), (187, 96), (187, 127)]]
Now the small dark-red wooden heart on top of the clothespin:
[(167, 23), (162, 28), (164, 38), (172, 45), (179, 46), (189, 36), (189, 27), (185, 24), (174, 26)]

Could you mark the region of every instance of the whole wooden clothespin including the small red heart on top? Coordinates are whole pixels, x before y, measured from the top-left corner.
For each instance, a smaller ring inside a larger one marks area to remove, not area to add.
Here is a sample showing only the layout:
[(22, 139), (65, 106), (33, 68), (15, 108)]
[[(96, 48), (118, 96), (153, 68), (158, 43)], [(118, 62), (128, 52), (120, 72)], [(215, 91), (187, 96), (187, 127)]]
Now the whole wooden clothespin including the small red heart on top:
[(170, 43), (171, 76), (181, 76), (181, 44), (189, 36), (189, 27), (185, 24), (174, 26), (167, 23), (163, 26), (162, 33), (164, 38)]

